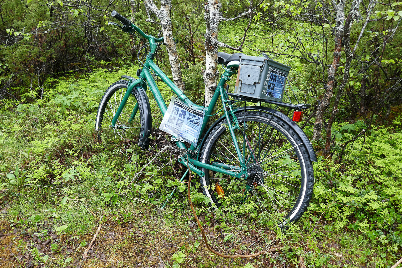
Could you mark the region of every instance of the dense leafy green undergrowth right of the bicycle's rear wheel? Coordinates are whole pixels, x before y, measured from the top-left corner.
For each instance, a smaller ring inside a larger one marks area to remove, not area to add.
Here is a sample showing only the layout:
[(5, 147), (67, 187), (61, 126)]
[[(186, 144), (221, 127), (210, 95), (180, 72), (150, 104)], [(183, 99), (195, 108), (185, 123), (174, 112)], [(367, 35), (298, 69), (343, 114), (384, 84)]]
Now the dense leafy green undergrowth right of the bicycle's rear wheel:
[(401, 118), (388, 127), (367, 128), (361, 121), (338, 124), (335, 142), (347, 145), (314, 163), (309, 208), (316, 220), (364, 233), (381, 252), (393, 256), (402, 248)]

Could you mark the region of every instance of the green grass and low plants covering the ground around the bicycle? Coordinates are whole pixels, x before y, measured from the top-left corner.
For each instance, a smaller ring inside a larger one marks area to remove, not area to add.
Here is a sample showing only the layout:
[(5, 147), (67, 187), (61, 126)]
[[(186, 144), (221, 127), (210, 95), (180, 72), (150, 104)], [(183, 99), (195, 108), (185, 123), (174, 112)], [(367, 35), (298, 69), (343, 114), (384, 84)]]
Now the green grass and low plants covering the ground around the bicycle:
[[(115, 72), (98, 70), (81, 78), (67, 76), (47, 85), (45, 99), (20, 105), (19, 113), (2, 108), (3, 266), (24, 267), (33, 262), (45, 267), (133, 267), (138, 263), (147, 267), (159, 265), (159, 257), (165, 266), (172, 266), (178, 252), (186, 255), (180, 267), (244, 267), (248, 262), (254, 267), (296, 267), (301, 260), (307, 267), (390, 267), (400, 258), (400, 118), (388, 128), (369, 128), (365, 139), (357, 138), (347, 146), (342, 163), (338, 157), (345, 141), (367, 126), (335, 124), (339, 145), (334, 155), (318, 157), (310, 208), (288, 229), (265, 225), (258, 213), (210, 212), (194, 178), (195, 207), (205, 217), (205, 231), (217, 251), (236, 254), (280, 248), (252, 259), (223, 260), (206, 249), (184, 189), (159, 210), (172, 190), (168, 179), (178, 179), (166, 165), (174, 154), (164, 153), (130, 183), (161, 145), (142, 151), (130, 141), (99, 142), (94, 135), (97, 101), (109, 84), (134, 70), (133, 66)], [(169, 99), (170, 91), (161, 88)], [(155, 102), (151, 104), (155, 110)], [(156, 128), (161, 116), (156, 113), (154, 119)], [(156, 138), (152, 142), (158, 143)], [(179, 175), (184, 171), (177, 163), (173, 167)], [(146, 183), (151, 186), (148, 190)], [(99, 223), (103, 228), (93, 255), (82, 260), (85, 247), (81, 243), (89, 243)], [(44, 235), (40, 243), (33, 241), (35, 235)], [(43, 245), (47, 239), (51, 242)], [(35, 255), (33, 245), (40, 245), (43, 254)], [(21, 260), (10, 259), (10, 251), (25, 255)]]

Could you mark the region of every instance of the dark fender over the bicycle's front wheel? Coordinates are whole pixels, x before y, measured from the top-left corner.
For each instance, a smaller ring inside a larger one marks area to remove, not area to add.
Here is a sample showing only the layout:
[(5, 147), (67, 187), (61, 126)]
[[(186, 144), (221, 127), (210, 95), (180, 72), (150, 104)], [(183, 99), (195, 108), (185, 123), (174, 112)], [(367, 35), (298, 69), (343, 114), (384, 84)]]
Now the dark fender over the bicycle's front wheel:
[[(121, 78), (137, 80), (134, 77), (128, 75), (123, 75), (121, 76)], [(141, 84), (135, 86), (133, 91), (134, 90), (138, 91), (139, 98), (143, 102), (142, 106), (144, 107), (144, 135), (142, 137), (139, 137), (138, 146), (146, 150), (149, 147), (149, 136), (152, 130), (151, 105), (146, 93), (146, 89), (144, 89)]]

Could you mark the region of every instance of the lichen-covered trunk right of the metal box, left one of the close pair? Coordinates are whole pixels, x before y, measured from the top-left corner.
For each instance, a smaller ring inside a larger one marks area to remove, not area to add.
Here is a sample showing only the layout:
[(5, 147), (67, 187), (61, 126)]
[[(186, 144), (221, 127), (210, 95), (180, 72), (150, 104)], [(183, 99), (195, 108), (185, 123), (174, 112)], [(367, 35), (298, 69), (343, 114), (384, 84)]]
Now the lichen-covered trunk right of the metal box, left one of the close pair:
[(321, 103), (317, 107), (316, 122), (313, 129), (313, 140), (318, 140), (321, 137), (321, 130), (324, 125), (324, 114), (330, 105), (332, 94), (334, 93), (335, 74), (338, 70), (340, 62), (340, 53), (342, 50), (342, 38), (343, 38), (343, 22), (345, 21), (345, 0), (332, 0), (332, 5), (335, 8), (335, 46), (334, 46), (334, 59), (328, 69), (327, 83), (324, 85), (325, 93), (322, 97)]

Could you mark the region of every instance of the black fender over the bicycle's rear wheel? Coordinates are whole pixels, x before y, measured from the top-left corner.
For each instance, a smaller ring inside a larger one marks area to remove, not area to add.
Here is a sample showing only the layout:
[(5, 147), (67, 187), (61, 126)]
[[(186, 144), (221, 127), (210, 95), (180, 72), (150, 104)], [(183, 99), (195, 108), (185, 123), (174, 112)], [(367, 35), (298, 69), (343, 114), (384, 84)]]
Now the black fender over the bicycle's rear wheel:
[[(244, 107), (234, 109), (234, 113), (241, 112), (241, 111), (244, 111)], [(293, 122), (285, 114), (281, 113), (280, 111), (275, 111), (274, 109), (271, 109), (269, 107), (262, 107), (262, 106), (246, 106), (246, 111), (264, 111), (264, 112), (271, 113), (271, 114), (273, 114), (275, 112), (275, 115), (277, 117), (281, 118), (283, 121), (285, 121), (287, 124), (289, 124), (289, 126), (291, 126), (291, 128), (293, 128), (293, 130), (295, 130), (295, 132), (299, 135), (299, 137), (301, 138), (303, 143), (306, 145), (307, 153), (310, 156), (310, 160), (312, 162), (317, 162), (316, 152), (314, 151), (314, 148), (313, 148), (309, 138), (306, 136), (304, 131), (299, 127), (299, 125), (297, 125), (295, 122)], [(218, 120), (216, 120), (212, 124), (212, 126), (207, 130), (207, 132), (205, 133), (205, 135), (201, 141), (201, 144), (199, 147), (200, 149), (203, 147), (205, 139), (208, 136), (209, 132), (211, 132), (211, 130), (213, 130), (213, 128), (215, 128), (215, 126), (217, 124), (219, 124), (222, 120), (225, 120), (225, 119), (226, 119), (225, 115), (222, 115)]]

